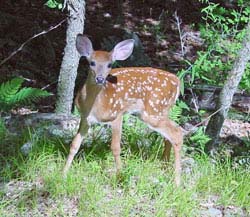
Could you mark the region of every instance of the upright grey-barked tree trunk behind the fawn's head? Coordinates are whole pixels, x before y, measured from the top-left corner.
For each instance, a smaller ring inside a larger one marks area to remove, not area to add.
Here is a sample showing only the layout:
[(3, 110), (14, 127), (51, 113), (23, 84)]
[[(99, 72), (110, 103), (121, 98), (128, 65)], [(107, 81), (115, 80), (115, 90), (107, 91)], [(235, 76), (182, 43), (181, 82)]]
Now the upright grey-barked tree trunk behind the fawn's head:
[(56, 113), (69, 115), (74, 97), (75, 79), (80, 59), (75, 41), (79, 33), (83, 33), (85, 19), (85, 1), (67, 0), (69, 11), (66, 46), (60, 69), (57, 87)]

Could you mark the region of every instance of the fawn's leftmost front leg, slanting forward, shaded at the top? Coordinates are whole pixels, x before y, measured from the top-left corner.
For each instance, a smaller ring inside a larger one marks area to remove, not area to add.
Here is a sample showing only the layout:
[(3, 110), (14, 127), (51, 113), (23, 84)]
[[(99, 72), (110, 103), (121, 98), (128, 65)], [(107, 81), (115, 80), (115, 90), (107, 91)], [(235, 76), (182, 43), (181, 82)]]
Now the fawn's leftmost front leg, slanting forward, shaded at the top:
[(78, 152), (78, 150), (79, 150), (79, 148), (81, 146), (83, 136), (87, 133), (87, 131), (88, 131), (87, 120), (81, 118), (80, 127), (78, 129), (78, 132), (75, 135), (75, 137), (73, 138), (73, 141), (72, 141), (72, 143), (70, 145), (69, 155), (68, 155), (66, 164), (64, 166), (64, 169), (63, 169), (63, 174), (64, 175), (67, 174), (67, 172), (68, 172), (68, 170), (69, 170), (69, 168), (70, 168), (70, 166), (72, 164), (72, 161), (73, 161), (76, 153)]

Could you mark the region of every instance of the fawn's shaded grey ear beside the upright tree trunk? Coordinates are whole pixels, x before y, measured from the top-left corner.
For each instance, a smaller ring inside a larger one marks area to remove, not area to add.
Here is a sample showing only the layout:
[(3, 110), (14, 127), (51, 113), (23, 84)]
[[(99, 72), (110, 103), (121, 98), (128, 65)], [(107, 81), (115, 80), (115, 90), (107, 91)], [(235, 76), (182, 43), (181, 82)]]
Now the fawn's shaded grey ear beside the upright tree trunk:
[(78, 34), (76, 37), (76, 49), (84, 57), (90, 57), (93, 53), (92, 42), (88, 37)]

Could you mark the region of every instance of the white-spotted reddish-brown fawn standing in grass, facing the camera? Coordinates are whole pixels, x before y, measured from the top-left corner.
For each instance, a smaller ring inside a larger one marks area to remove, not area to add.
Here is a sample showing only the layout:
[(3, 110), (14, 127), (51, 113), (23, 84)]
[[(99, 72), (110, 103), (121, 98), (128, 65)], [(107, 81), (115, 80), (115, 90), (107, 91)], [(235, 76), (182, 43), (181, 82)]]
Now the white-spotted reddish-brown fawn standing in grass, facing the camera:
[(173, 146), (175, 182), (178, 186), (183, 135), (181, 128), (169, 119), (168, 113), (179, 96), (180, 82), (174, 74), (150, 67), (112, 69), (112, 63), (127, 59), (133, 47), (134, 40), (128, 39), (118, 43), (111, 52), (94, 51), (87, 37), (77, 36), (76, 48), (89, 61), (92, 73), (89, 73), (75, 99), (81, 113), (81, 123), (72, 141), (64, 174), (78, 152), (89, 126), (99, 122), (110, 123), (112, 127), (111, 150), (119, 172), (122, 116), (127, 112), (138, 114), (141, 120), (165, 138), (163, 157), (166, 160), (169, 160)]

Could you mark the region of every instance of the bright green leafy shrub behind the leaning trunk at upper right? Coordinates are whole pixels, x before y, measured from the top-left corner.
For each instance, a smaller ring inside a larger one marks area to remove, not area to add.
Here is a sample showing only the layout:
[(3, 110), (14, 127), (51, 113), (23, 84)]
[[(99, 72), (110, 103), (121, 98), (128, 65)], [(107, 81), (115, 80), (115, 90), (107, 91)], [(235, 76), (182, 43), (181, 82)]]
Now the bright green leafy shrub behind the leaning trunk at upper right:
[[(188, 62), (189, 68), (179, 72), (181, 81), (187, 85), (206, 83), (222, 86), (228, 71), (231, 70), (235, 57), (244, 38), (244, 26), (249, 22), (250, 7), (247, 2), (238, 1), (238, 9), (225, 9), (209, 0), (202, 9), (204, 24), (200, 25), (201, 36), (206, 50), (198, 52), (194, 63)], [(240, 88), (250, 91), (250, 68), (240, 83)], [(188, 80), (184, 80), (185, 77)], [(182, 89), (183, 93), (184, 89)]]

